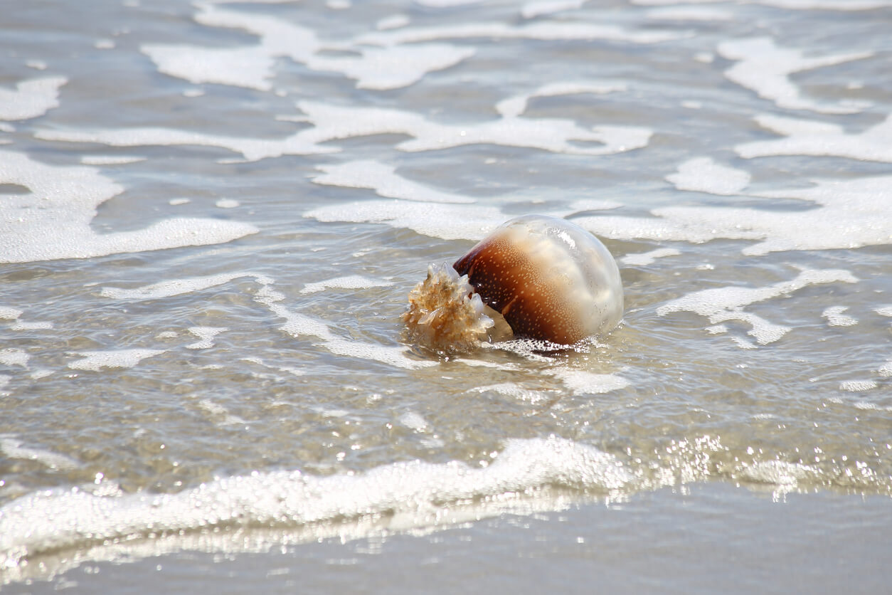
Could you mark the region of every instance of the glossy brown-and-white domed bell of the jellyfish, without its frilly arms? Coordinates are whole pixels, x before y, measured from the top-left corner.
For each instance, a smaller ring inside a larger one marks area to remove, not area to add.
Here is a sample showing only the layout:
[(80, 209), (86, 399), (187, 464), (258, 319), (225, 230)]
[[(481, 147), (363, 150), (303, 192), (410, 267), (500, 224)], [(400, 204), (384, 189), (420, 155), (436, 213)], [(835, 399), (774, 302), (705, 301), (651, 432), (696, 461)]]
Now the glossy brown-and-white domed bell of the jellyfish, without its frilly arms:
[(576, 343), (623, 315), (619, 270), (597, 238), (565, 219), (508, 221), (453, 268), (516, 336)]

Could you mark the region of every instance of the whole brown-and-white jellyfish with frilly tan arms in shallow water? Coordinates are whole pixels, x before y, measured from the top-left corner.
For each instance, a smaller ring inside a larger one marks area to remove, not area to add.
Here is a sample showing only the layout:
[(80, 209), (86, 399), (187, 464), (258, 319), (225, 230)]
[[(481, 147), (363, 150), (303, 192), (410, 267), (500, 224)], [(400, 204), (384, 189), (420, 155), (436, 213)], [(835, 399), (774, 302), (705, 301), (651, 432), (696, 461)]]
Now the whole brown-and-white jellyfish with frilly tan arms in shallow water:
[(623, 284), (607, 247), (544, 215), (509, 220), (452, 267), (431, 265), (403, 314), (411, 338), (438, 351), (511, 337), (567, 345), (621, 318)]

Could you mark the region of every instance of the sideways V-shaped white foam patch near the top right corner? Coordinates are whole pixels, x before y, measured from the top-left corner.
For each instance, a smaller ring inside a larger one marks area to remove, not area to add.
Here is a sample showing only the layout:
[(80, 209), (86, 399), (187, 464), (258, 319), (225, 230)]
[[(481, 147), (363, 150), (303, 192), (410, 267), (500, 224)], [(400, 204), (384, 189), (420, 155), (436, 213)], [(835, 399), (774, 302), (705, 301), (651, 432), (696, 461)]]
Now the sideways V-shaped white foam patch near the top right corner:
[(811, 110), (822, 113), (856, 113), (864, 104), (822, 103), (805, 98), (799, 93), (789, 75), (824, 66), (870, 58), (872, 52), (834, 54), (805, 58), (802, 50), (780, 48), (769, 37), (726, 41), (718, 46), (718, 53), (728, 60), (738, 61), (725, 70), (725, 77), (756, 95), (774, 102), (779, 107)]

